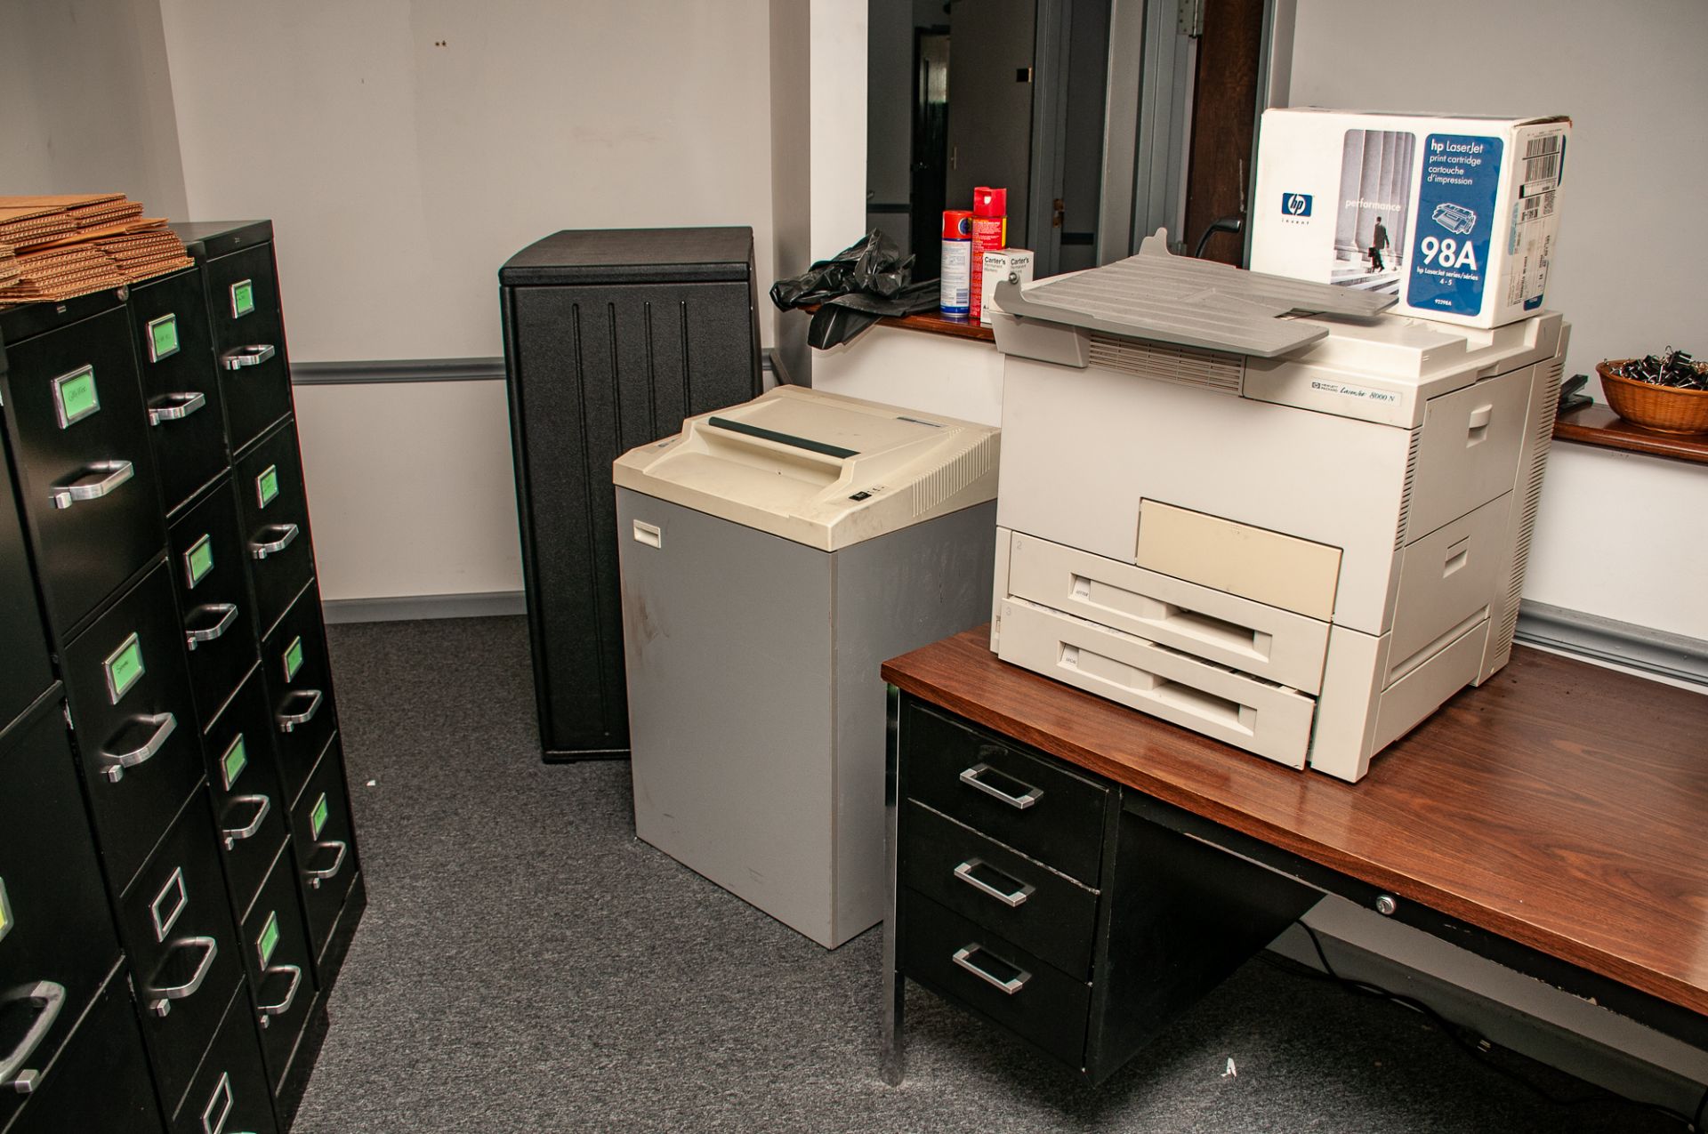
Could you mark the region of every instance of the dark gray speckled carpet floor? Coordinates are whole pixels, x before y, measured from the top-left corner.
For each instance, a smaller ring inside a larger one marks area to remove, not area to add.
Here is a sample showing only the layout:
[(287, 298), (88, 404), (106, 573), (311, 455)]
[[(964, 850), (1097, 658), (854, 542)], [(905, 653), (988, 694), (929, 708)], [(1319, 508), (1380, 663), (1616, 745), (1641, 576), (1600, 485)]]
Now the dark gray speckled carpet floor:
[(297, 1134), (1682, 1129), (1264, 962), (1095, 1090), (909, 987), (885, 1086), (880, 931), (825, 951), (639, 842), (627, 763), (541, 763), (521, 618), (330, 639), (369, 907)]

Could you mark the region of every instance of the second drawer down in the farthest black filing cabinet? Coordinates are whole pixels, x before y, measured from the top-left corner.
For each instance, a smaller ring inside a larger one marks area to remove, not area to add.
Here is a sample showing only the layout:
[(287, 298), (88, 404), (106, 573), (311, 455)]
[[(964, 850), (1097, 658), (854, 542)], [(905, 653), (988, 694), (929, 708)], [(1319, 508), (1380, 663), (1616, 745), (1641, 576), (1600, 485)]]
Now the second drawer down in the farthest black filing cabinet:
[(251, 449), (234, 475), (256, 627), (265, 635), (314, 577), (309, 502), (302, 494), (302, 463), (292, 422)]

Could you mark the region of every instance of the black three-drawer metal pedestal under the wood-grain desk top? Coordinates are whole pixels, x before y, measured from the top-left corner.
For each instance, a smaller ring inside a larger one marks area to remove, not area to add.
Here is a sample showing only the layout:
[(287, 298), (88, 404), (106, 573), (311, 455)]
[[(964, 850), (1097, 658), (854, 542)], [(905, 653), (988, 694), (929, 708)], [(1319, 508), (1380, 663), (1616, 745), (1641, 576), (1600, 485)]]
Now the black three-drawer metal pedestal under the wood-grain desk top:
[(1020, 741), (905, 693), (892, 712), (892, 977), (1093, 1083), (1320, 897)]

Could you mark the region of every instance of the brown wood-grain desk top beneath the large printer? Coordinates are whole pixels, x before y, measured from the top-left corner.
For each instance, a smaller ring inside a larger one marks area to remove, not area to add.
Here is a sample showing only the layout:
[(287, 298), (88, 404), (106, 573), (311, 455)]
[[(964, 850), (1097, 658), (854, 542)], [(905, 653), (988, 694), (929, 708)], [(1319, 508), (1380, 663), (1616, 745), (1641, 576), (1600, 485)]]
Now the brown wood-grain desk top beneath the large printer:
[(1708, 1014), (1708, 695), (1518, 647), (1346, 784), (997, 661), (892, 685), (1448, 917)]

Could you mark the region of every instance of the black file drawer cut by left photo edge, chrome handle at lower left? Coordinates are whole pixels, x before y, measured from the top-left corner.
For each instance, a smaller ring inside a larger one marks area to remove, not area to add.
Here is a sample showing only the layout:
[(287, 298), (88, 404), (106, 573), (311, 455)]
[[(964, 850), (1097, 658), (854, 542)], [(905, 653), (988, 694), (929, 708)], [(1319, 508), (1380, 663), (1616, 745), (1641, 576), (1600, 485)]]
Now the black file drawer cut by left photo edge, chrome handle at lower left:
[[(0, 1026), (39, 1078), (120, 958), (58, 702), (0, 734)], [(0, 1084), (0, 1127), (22, 1103)]]

